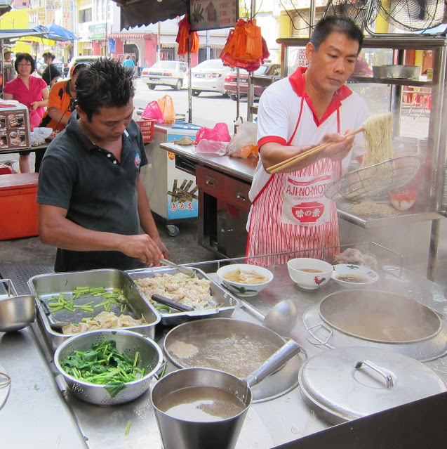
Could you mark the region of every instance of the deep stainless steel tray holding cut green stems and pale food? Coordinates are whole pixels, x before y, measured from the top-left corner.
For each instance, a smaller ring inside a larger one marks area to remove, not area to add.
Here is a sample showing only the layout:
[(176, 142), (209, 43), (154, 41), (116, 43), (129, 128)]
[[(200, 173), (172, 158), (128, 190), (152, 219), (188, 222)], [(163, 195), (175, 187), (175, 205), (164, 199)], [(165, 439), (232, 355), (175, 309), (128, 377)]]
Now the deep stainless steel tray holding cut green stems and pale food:
[[(36, 298), (37, 318), (41, 321), (53, 351), (58, 348), (62, 341), (65, 341), (65, 339), (71, 337), (71, 335), (65, 335), (51, 329), (51, 322), (48, 318), (48, 313), (46, 313), (44, 306), (41, 304), (41, 299), (46, 299), (55, 294), (65, 294), (68, 296), (74, 289), (76, 289), (76, 287), (80, 287), (81, 285), (88, 285), (88, 287), (105, 287), (107, 289), (118, 288), (123, 290), (124, 295), (128, 299), (128, 309), (125, 312), (126, 315), (133, 315), (134, 318), (141, 318), (141, 315), (143, 315), (147, 321), (147, 324), (145, 325), (129, 326), (126, 327), (126, 329), (145, 334), (152, 339), (154, 338), (155, 325), (160, 322), (160, 315), (155, 310), (154, 306), (149, 304), (149, 301), (145, 299), (140, 293), (140, 290), (135, 286), (133, 280), (131, 280), (128, 274), (124, 273), (124, 271), (105, 269), (78, 271), (75, 273), (37, 275), (28, 280), (28, 287)], [(102, 298), (98, 298), (98, 302), (99, 301), (102, 301)], [(94, 312), (95, 315), (100, 313), (101, 310), (102, 309), (98, 309), (97, 312)], [(80, 318), (91, 315), (92, 313), (79, 312), (72, 315), (73, 318), (70, 322), (79, 323)], [(63, 318), (65, 319), (66, 315), (63, 315)]]

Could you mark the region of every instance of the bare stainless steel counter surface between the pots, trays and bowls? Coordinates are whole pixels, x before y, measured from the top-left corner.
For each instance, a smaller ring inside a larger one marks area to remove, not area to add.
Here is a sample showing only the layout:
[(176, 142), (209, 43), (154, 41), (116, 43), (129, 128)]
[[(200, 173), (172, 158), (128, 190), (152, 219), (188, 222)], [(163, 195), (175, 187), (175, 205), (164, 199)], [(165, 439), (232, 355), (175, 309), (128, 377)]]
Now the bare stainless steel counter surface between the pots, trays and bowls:
[[(201, 268), (201, 264), (197, 266)], [(309, 307), (341, 287), (330, 281), (320, 289), (305, 291), (289, 278), (286, 266), (273, 267), (272, 272), (272, 284), (258, 297), (250, 299), (251, 303), (260, 311), (267, 312), (278, 301), (293, 299), (298, 306), (300, 318), (290, 336), (302, 345), (307, 357), (319, 353), (323, 349), (305, 338), (305, 326), (301, 317)], [(393, 263), (392, 259), (384, 259), (378, 273), (380, 280), (374, 285), (374, 289), (403, 291), (408, 297), (443, 313), (445, 320), (447, 301), (439, 285), (418, 278), (402, 269), (399, 264)], [(258, 323), (243, 309), (236, 310), (232, 318)], [(38, 327), (33, 325), (33, 329), (39, 336)], [(160, 343), (165, 333), (166, 329), (158, 335)], [(64, 401), (60, 391), (65, 390), (65, 383), (61, 376), (53, 378), (54, 367), (52, 364), (50, 367), (46, 365), (45, 356), (51, 358), (51, 354), (42, 351), (29, 328), (12, 334), (0, 334), (0, 363), (13, 378), (8, 401), (0, 411), (2, 447), (161, 447), (149, 391), (136, 401), (109, 408), (84, 403), (69, 393)], [(447, 381), (446, 357), (427, 365)], [(168, 367), (168, 370), (173, 369), (172, 365)], [(128, 421), (131, 422), (131, 429), (126, 436), (124, 431)], [(26, 433), (25, 423), (30, 430)], [(307, 408), (301, 400), (299, 388), (295, 388), (280, 398), (251, 405), (236, 448), (272, 448), (327, 428), (328, 424)], [(86, 443), (83, 436), (86, 437)]]

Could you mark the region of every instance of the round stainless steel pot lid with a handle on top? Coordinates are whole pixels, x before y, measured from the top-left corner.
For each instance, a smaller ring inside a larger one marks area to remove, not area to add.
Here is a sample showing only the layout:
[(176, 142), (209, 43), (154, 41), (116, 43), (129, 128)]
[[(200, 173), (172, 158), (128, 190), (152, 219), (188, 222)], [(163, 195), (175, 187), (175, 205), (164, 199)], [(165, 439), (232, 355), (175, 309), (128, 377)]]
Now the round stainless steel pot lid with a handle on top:
[(418, 360), (372, 347), (319, 353), (302, 366), (299, 383), (307, 405), (333, 423), (447, 391), (436, 372)]

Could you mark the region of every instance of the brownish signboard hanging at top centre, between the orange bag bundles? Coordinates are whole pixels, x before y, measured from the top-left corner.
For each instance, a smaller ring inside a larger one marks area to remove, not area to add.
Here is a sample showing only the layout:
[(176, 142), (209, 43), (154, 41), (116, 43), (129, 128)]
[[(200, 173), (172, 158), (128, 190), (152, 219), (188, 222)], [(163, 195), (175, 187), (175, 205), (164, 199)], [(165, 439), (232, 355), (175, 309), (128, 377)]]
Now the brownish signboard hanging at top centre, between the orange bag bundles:
[(239, 19), (238, 1), (190, 0), (188, 17), (192, 31), (234, 27)]

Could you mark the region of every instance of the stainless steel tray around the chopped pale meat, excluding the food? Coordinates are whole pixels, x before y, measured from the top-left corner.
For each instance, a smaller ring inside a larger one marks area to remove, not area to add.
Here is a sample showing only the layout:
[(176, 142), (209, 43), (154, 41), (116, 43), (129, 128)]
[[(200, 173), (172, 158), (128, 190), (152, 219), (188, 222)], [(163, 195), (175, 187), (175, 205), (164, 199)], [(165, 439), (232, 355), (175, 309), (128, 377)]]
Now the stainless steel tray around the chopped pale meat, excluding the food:
[[(221, 285), (211, 279), (210, 276), (206, 275), (204, 271), (199, 270), (199, 268), (192, 269), (196, 272), (197, 278), (205, 278), (211, 281), (210, 290), (211, 296), (213, 297), (211, 307), (218, 306), (219, 304), (223, 305), (192, 312), (172, 311), (172, 313), (166, 313), (161, 311), (160, 315), (162, 325), (176, 326), (198, 318), (228, 318), (232, 315), (234, 309), (241, 307), (241, 301), (239, 299), (223, 289)], [(128, 273), (130, 278), (136, 283), (138, 278), (153, 278), (156, 273), (175, 275), (180, 273), (180, 271), (175, 268), (158, 266), (154, 268), (141, 268), (140, 270), (126, 271), (126, 273)], [(144, 293), (142, 293), (142, 295), (144, 296)], [(149, 298), (147, 298), (147, 301), (149, 301)]]

